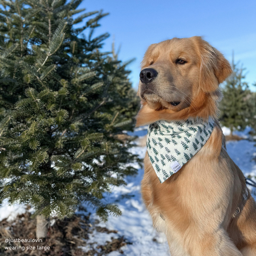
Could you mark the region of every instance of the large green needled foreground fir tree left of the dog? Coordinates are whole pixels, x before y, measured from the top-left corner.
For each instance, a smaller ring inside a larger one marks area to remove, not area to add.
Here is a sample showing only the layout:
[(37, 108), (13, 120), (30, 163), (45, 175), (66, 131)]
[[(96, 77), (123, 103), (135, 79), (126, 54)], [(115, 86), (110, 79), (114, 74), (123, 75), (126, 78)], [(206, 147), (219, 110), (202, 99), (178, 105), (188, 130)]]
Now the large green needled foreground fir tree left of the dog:
[(139, 104), (128, 62), (100, 51), (107, 33), (93, 37), (107, 14), (74, 19), (81, 1), (0, 1), (0, 199), (59, 218), (87, 201), (106, 219), (121, 212), (103, 193), (136, 173), (118, 135)]

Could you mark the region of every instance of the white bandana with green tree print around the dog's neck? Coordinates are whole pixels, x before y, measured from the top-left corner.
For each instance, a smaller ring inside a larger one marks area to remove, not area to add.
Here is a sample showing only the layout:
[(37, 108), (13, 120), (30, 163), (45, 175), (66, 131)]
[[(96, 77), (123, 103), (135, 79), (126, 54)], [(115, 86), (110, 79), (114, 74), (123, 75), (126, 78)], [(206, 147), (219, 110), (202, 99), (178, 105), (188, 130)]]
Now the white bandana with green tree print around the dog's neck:
[(161, 183), (203, 147), (213, 125), (212, 118), (208, 122), (194, 118), (177, 122), (157, 121), (148, 126), (147, 151)]

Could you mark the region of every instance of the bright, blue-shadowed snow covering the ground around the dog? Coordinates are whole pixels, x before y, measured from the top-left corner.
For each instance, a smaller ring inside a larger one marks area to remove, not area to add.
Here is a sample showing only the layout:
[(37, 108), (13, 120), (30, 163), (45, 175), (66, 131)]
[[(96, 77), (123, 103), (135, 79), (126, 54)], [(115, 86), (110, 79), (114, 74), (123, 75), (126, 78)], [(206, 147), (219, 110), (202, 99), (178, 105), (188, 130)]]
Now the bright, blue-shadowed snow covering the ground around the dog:
[[(229, 134), (228, 128), (223, 128), (225, 134)], [(250, 129), (246, 129), (244, 133), (235, 133), (241, 137), (248, 138), (247, 133)], [(146, 127), (135, 130), (135, 135), (143, 137), (146, 134)], [(256, 162), (253, 158), (256, 157), (255, 142), (249, 140), (228, 141), (226, 143), (227, 151), (233, 161), (240, 167), (245, 177), (251, 175), (256, 176)], [(146, 147), (137, 146), (132, 148), (133, 153), (136, 153), (140, 158), (144, 158)], [(139, 168), (138, 164), (134, 164), (138, 169), (138, 175), (135, 177), (127, 177), (126, 186), (113, 187), (111, 194), (106, 194), (107, 202), (115, 202), (122, 210), (122, 215), (119, 217), (110, 216), (107, 223), (98, 225), (106, 227), (109, 230), (118, 230), (117, 234), (94, 233), (89, 234), (87, 244), (94, 243), (104, 244), (105, 241), (111, 241), (111, 237), (124, 236), (132, 244), (122, 247), (123, 254), (118, 251), (113, 251), (109, 256), (170, 256), (169, 247), (164, 236), (157, 233), (152, 226), (151, 217), (146, 210), (141, 194), (140, 182), (143, 178), (143, 169)], [(255, 179), (254, 179), (255, 180)], [(249, 189), (252, 187), (248, 186)], [(256, 199), (255, 190), (252, 190), (252, 195)], [(9, 207), (7, 204), (0, 208), (0, 220), (9, 217), (14, 218), (15, 212), (22, 212), (25, 209), (18, 205)], [(9, 215), (8, 215), (9, 214)], [(97, 219), (94, 212), (91, 215), (92, 221)], [(87, 251), (89, 247), (82, 247), (82, 250)]]

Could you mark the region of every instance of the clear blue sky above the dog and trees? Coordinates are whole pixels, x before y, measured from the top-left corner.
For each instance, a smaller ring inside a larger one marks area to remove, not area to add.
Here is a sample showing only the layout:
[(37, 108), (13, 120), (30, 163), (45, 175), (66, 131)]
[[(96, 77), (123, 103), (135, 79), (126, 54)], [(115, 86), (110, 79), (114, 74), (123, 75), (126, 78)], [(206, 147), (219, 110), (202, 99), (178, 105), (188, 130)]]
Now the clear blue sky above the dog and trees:
[(100, 21), (95, 36), (108, 32), (103, 50), (110, 51), (115, 38), (121, 45), (119, 59), (129, 65), (130, 80), (138, 87), (140, 62), (147, 47), (173, 37), (202, 36), (231, 62), (246, 68), (250, 88), (256, 82), (256, 1), (241, 0), (84, 0), (86, 11), (103, 9), (110, 14)]

